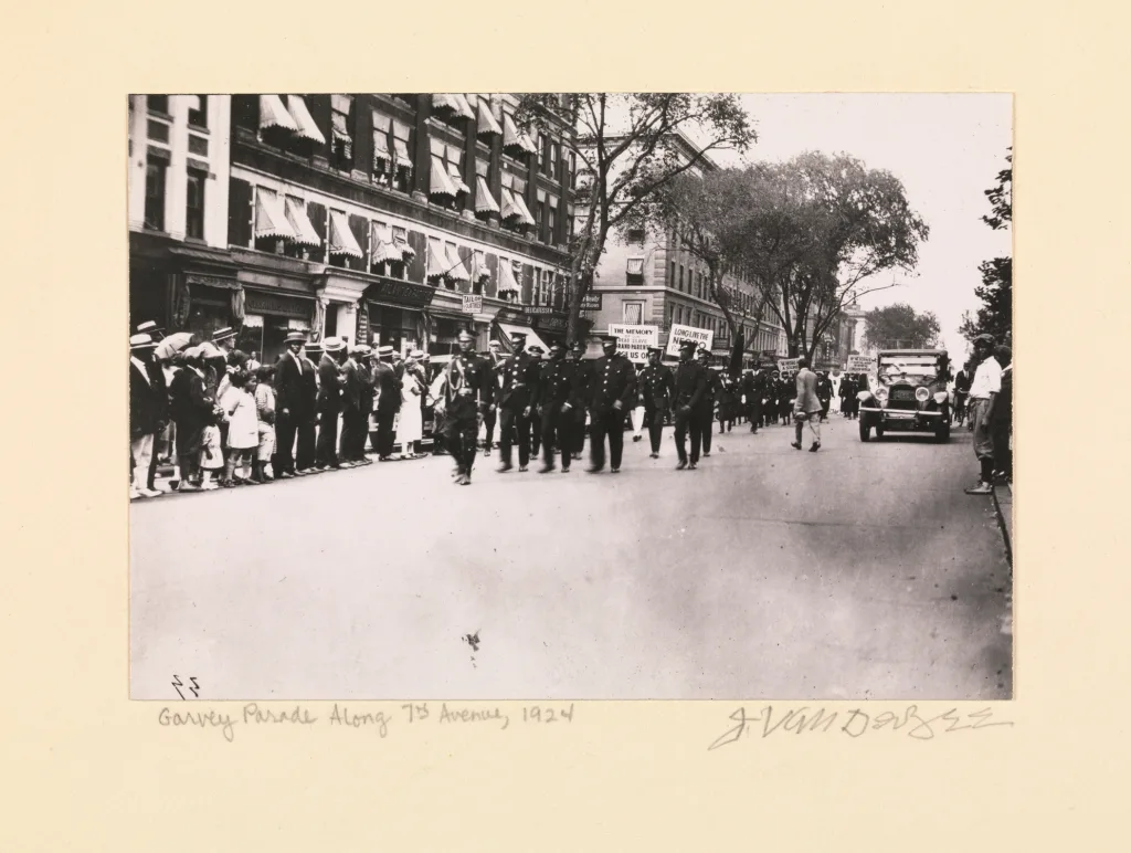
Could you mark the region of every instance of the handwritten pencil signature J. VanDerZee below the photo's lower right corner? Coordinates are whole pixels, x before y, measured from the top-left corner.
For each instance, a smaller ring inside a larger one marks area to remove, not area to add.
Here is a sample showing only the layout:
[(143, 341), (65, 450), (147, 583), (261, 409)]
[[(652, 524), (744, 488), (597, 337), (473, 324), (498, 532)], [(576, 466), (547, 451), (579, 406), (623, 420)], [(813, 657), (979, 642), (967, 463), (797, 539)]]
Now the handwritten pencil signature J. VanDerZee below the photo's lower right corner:
[(936, 735), (964, 730), (992, 729), (994, 726), (1011, 726), (1012, 721), (993, 720), (993, 708), (979, 708), (968, 713), (950, 708), (934, 716), (920, 713), (918, 705), (908, 705), (903, 712), (884, 710), (869, 713), (863, 708), (851, 710), (828, 710), (811, 708), (806, 705), (788, 710), (775, 710), (772, 705), (765, 706), (756, 716), (749, 716), (745, 708), (739, 708), (728, 717), (735, 725), (716, 738), (707, 748), (708, 751), (736, 743), (743, 735), (759, 731), (756, 723), (761, 723), (762, 738), (776, 733), (801, 734), (803, 732), (834, 732), (849, 738), (860, 738), (867, 732), (891, 731), (903, 732), (915, 740), (933, 740)]

